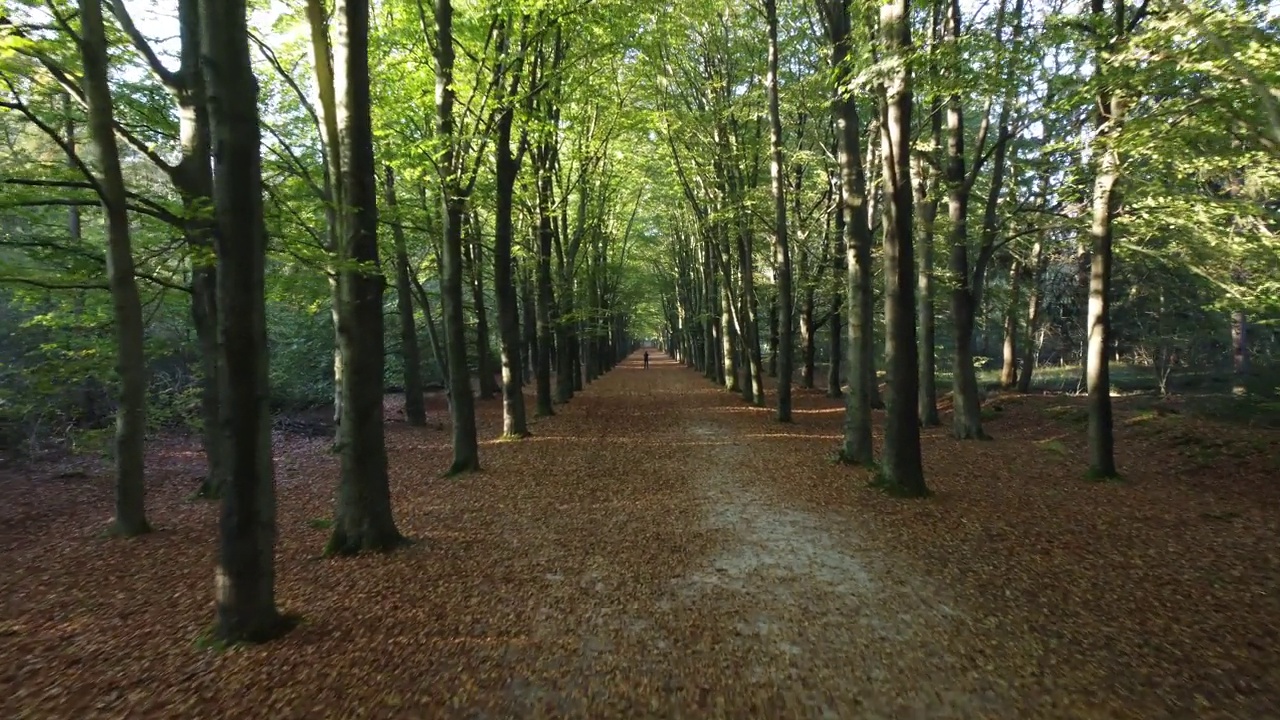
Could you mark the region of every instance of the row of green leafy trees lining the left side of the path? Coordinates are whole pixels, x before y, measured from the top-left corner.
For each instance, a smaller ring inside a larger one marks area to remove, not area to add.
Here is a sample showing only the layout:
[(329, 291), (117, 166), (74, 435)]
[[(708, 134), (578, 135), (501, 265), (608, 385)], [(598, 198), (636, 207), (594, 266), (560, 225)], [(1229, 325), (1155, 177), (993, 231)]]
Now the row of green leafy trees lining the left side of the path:
[[(402, 382), (406, 420), (426, 423), (422, 327), (448, 392), (456, 474), (480, 468), (474, 374), (481, 398), (500, 389), (504, 436), (525, 437), (526, 382), (532, 413), (550, 415), (644, 324), (635, 219), (645, 183), (617, 151), (637, 132), (626, 94), (613, 92), (627, 82), (623, 26), (570, 3), (374, 9), (307, 0), (271, 18), (243, 0), (179, 0), (174, 18), (136, 19), (120, 1), (106, 17), (101, 0), (3, 8), (13, 150), (3, 279), (38, 288), (45, 307), (73, 305), (83, 325), (109, 302), (100, 327), (114, 331), (120, 536), (150, 529), (143, 442), (156, 363), (196, 359), (201, 493), (221, 498), (218, 633), (228, 641), (285, 626), (273, 597), (273, 290), (300, 299), (307, 288), (306, 302), (333, 320), (340, 474), (329, 553), (404, 539), (384, 387)], [(270, 41), (251, 29), (273, 22)], [(175, 45), (157, 40), (166, 23)], [(575, 23), (591, 32), (568, 32)], [(81, 222), (92, 206), (101, 236)], [(195, 342), (165, 354), (147, 300), (163, 307), (170, 292), (189, 297)], [(9, 300), (20, 307), (20, 295)]]

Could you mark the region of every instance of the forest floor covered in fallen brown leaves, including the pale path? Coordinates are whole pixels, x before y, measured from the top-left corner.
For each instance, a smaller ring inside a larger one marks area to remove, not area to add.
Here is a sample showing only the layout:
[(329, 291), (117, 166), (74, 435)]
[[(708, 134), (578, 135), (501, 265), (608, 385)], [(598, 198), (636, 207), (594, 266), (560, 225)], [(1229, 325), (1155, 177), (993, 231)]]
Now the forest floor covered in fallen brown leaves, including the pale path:
[[(4, 717), (1276, 717), (1280, 433), (1117, 400), (1123, 483), (1082, 479), (1079, 400), (925, 432), (933, 496), (835, 465), (838, 401), (782, 425), (631, 359), (484, 471), (394, 421), (416, 542), (319, 560), (335, 459), (279, 433), (284, 638), (218, 651), (216, 509), (156, 441), (157, 532), (104, 539), (110, 475), (0, 475)], [(435, 420), (439, 423), (435, 423)]]

